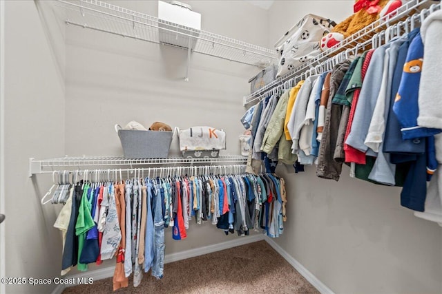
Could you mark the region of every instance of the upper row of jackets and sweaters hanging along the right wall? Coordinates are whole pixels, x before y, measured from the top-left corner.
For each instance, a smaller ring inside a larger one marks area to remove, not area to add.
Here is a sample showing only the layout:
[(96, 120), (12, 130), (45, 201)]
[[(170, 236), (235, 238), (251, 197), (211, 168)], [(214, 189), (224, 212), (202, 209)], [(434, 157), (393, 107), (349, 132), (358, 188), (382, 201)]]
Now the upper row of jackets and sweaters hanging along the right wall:
[(442, 225), (439, 8), (410, 18), (421, 28), (398, 23), (371, 50), (347, 59), (343, 52), (332, 68), (307, 72), (251, 107), (242, 118), (251, 130), (247, 171), (262, 160), (315, 165), (316, 176), (338, 181), (345, 163), (352, 178), (403, 187), (403, 207)]

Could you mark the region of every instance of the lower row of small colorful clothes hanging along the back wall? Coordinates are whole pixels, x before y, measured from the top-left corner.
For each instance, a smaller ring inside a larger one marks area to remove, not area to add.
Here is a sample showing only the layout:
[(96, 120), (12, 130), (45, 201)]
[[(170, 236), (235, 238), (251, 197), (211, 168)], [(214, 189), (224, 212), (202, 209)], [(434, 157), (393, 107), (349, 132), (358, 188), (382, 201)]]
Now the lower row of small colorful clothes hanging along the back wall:
[(113, 182), (109, 175), (102, 181), (82, 173), (82, 180), (69, 184), (70, 172), (59, 172), (64, 180), (52, 197), (52, 203), (64, 203), (54, 224), (63, 232), (61, 275), (73, 266), (87, 271), (88, 264), (116, 256), (114, 290), (128, 286), (131, 273), (134, 286), (143, 271), (163, 277), (168, 227), (173, 240), (186, 239), (191, 222), (211, 222), (226, 235), (254, 230), (275, 238), (287, 219), (285, 182), (275, 174), (140, 178), (139, 172)]

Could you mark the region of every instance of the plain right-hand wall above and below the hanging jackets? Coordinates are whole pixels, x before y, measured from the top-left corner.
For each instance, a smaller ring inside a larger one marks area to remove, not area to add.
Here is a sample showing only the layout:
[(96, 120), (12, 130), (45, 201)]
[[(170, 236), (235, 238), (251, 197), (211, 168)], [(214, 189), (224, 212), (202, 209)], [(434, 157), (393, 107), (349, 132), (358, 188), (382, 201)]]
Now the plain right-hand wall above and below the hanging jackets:
[[(336, 22), (351, 1), (276, 1), (270, 44), (304, 14)], [(278, 33), (279, 32), (279, 33)], [(442, 293), (442, 228), (401, 207), (401, 189), (349, 178), (316, 178), (314, 167), (287, 183), (287, 223), (275, 241), (335, 293)]]

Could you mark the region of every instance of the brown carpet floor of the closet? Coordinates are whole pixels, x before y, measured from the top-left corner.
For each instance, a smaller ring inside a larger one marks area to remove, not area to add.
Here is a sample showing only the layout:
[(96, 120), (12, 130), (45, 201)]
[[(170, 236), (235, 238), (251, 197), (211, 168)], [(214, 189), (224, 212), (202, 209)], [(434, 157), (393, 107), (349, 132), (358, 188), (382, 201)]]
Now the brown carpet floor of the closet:
[[(137, 288), (115, 293), (319, 293), (267, 242), (260, 241), (164, 264), (164, 277), (144, 274)], [(64, 294), (112, 293), (112, 278), (66, 288)]]

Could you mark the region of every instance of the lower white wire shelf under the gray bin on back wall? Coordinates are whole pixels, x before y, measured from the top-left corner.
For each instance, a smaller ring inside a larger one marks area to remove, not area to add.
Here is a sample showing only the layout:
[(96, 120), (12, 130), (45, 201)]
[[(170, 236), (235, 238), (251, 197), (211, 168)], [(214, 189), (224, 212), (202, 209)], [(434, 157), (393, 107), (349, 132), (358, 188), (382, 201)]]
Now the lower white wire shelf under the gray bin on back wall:
[(43, 160), (36, 160), (30, 158), (29, 160), (29, 176), (35, 174), (43, 174), (55, 171), (60, 168), (81, 169), (82, 167), (142, 167), (146, 165), (212, 165), (215, 163), (229, 163), (229, 164), (245, 164), (247, 157), (240, 155), (226, 155), (219, 158), (182, 158), (173, 156), (169, 158), (139, 158), (128, 159), (123, 157), (106, 157), (106, 156), (91, 156), (91, 157), (61, 157), (50, 158)]

